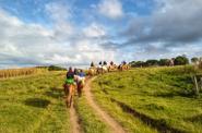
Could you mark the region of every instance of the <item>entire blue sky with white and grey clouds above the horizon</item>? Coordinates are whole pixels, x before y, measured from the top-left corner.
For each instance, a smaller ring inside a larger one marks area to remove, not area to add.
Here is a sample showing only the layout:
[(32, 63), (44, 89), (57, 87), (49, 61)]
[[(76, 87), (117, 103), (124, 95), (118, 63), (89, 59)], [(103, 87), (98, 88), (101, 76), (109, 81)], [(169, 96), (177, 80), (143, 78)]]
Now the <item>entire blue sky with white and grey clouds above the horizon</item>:
[(0, 0), (0, 69), (202, 56), (202, 0)]

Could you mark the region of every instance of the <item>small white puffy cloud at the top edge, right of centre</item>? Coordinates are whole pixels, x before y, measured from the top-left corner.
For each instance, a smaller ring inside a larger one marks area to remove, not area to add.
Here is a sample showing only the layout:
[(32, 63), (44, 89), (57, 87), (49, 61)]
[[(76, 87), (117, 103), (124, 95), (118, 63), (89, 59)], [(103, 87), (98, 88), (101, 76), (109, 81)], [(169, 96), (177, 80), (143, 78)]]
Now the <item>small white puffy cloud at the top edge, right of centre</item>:
[(119, 19), (123, 15), (122, 4), (119, 0), (102, 0), (98, 10), (100, 14), (109, 19)]

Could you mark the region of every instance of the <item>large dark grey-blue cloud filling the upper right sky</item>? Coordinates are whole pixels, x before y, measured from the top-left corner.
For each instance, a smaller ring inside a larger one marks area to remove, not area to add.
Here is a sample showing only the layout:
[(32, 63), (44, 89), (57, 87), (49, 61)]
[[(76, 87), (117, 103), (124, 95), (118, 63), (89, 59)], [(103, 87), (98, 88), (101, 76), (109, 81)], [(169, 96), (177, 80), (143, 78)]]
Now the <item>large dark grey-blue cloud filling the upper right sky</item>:
[[(193, 43), (202, 36), (201, 0), (163, 0), (150, 16), (134, 17), (123, 35), (135, 43)], [(186, 13), (183, 12), (186, 11)]]

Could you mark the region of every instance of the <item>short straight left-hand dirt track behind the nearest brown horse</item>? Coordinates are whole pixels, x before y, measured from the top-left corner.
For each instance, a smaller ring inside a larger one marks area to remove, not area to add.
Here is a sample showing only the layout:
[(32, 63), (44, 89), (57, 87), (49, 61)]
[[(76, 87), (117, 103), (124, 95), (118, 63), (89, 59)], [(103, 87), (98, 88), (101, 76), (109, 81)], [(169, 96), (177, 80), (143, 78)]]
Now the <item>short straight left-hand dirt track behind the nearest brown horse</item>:
[(76, 116), (75, 108), (73, 106), (70, 108), (70, 123), (71, 133), (81, 133), (79, 117)]

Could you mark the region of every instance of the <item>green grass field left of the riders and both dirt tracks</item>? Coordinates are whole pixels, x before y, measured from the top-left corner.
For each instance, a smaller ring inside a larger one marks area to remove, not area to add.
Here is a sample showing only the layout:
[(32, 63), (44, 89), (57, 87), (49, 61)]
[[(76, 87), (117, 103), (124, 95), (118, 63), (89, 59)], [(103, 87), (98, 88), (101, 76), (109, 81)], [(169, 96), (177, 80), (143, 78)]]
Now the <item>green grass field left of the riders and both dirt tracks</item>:
[(64, 73), (49, 72), (0, 81), (0, 133), (67, 133)]

